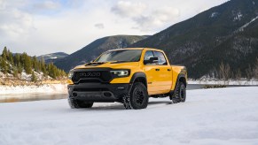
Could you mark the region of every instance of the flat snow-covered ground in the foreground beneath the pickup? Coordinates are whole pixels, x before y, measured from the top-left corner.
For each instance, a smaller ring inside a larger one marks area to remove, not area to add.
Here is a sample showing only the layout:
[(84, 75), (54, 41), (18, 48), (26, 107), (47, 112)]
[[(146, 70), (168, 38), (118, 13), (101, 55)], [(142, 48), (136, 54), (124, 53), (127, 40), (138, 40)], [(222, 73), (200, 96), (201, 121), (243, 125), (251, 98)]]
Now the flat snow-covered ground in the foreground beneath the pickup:
[(185, 103), (151, 99), (146, 110), (66, 100), (0, 104), (0, 144), (258, 144), (258, 88), (187, 91)]

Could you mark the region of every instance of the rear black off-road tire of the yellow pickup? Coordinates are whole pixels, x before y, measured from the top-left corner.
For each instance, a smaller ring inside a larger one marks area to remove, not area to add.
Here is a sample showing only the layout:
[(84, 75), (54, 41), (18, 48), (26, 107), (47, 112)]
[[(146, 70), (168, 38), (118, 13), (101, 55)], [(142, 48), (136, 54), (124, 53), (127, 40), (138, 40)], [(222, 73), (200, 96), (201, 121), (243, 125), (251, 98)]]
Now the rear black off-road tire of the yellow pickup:
[(186, 90), (184, 83), (182, 81), (179, 81), (179, 83), (176, 85), (175, 93), (172, 95), (172, 102), (173, 103), (184, 103), (186, 99)]

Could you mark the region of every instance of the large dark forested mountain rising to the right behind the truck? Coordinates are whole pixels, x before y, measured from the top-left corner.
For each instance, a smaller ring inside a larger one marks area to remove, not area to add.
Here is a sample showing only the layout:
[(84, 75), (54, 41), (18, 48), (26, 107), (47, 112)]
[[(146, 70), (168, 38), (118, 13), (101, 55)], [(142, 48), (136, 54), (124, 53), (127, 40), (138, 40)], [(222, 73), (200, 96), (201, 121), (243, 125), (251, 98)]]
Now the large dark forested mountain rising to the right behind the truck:
[(231, 0), (168, 27), (130, 47), (165, 50), (190, 77), (214, 75), (223, 62), (246, 75), (258, 57), (258, 1)]

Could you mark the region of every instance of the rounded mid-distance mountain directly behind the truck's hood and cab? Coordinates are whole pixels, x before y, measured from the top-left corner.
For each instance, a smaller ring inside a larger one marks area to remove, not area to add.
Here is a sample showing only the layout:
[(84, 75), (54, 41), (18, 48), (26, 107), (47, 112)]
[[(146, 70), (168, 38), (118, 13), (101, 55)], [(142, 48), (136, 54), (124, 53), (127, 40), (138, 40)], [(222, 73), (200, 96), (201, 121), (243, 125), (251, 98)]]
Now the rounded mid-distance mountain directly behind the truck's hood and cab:
[(137, 35), (114, 35), (98, 39), (89, 45), (77, 50), (73, 54), (60, 58), (54, 62), (59, 68), (66, 72), (74, 68), (76, 65), (82, 65), (90, 60), (97, 58), (106, 50), (126, 48), (134, 42), (145, 39), (147, 36)]

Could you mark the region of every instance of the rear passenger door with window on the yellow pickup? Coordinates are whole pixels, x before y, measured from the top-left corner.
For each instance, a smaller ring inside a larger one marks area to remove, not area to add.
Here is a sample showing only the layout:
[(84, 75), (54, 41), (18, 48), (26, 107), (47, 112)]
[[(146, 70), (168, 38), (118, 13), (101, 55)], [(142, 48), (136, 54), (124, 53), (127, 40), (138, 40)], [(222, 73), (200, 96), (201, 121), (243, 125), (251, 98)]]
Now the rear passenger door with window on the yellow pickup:
[(168, 93), (172, 86), (171, 66), (168, 65), (168, 60), (162, 52), (154, 50), (153, 54), (154, 57), (159, 58), (159, 62), (156, 65), (156, 71), (158, 72), (156, 87), (159, 89), (160, 94)]

